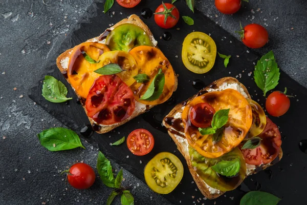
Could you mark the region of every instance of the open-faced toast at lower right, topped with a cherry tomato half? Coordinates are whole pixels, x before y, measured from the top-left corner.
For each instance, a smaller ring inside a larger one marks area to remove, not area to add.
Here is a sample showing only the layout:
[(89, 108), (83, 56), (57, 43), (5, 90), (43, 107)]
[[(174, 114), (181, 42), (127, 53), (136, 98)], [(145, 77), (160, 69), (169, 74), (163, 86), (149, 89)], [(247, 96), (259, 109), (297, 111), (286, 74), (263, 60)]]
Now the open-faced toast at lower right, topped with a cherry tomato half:
[(232, 77), (214, 81), (164, 118), (200, 191), (209, 199), (282, 157), (277, 126)]

